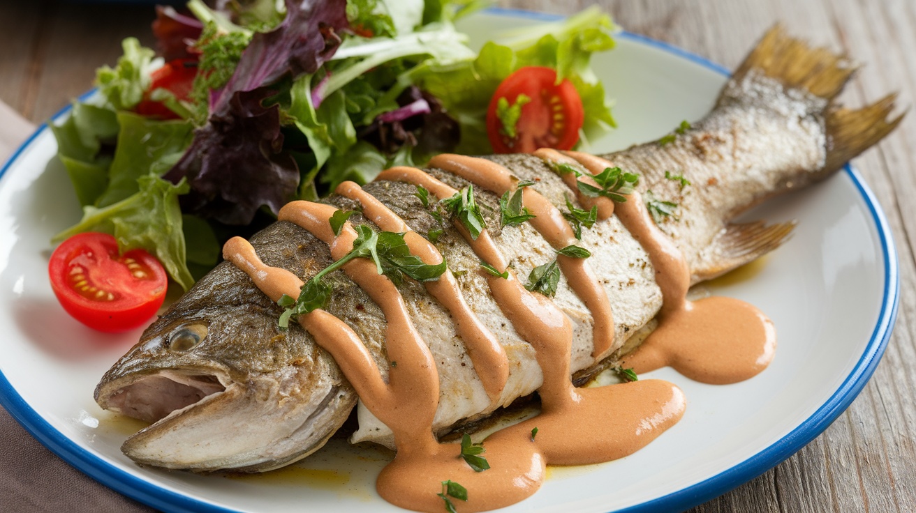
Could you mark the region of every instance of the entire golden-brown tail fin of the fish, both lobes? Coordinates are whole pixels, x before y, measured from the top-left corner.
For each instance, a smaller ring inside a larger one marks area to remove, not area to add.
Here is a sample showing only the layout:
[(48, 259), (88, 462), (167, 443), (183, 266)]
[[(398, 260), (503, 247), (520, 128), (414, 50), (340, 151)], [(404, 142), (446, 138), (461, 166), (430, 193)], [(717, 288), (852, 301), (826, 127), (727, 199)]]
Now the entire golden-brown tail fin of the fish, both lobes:
[[(786, 88), (808, 91), (825, 100), (823, 120), (826, 157), (814, 177), (825, 177), (845, 165), (889, 134), (903, 117), (890, 118), (896, 94), (857, 110), (840, 107), (834, 99), (853, 74), (856, 64), (845, 55), (827, 48), (812, 48), (801, 39), (789, 37), (777, 24), (764, 35), (736, 69), (733, 80), (741, 81), (751, 72), (779, 80)], [(722, 99), (720, 99), (722, 102)]]

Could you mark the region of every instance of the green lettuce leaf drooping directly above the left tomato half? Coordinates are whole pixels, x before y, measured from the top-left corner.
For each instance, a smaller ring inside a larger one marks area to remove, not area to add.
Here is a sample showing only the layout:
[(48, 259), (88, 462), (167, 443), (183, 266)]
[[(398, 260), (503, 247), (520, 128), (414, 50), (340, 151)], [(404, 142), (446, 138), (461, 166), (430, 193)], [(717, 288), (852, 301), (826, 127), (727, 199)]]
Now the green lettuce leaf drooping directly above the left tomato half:
[(61, 231), (54, 240), (64, 240), (83, 231), (102, 231), (114, 235), (122, 252), (136, 248), (149, 251), (165, 267), (181, 288), (188, 290), (194, 278), (186, 263), (184, 232), (178, 197), (190, 190), (183, 180), (179, 185), (155, 175), (140, 176), (139, 190), (105, 208), (82, 208), (82, 220)]

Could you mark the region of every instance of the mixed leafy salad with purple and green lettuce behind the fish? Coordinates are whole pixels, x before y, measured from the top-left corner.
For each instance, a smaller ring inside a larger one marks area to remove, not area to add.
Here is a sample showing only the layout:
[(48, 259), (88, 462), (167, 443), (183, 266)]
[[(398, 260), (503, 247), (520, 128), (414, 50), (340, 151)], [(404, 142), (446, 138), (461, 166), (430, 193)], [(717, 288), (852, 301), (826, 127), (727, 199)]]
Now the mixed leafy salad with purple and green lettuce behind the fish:
[[(592, 9), (475, 52), (454, 27), (474, 1), (224, 4), (159, 7), (157, 49), (125, 39), (114, 68), (98, 69), (97, 94), (51, 127), (83, 208), (57, 239), (110, 233), (187, 290), (224, 240), (273, 222), (289, 200), (442, 152), (569, 148), (614, 124), (589, 69), (614, 27)], [(526, 113), (541, 75), (578, 96), (564, 134)]]

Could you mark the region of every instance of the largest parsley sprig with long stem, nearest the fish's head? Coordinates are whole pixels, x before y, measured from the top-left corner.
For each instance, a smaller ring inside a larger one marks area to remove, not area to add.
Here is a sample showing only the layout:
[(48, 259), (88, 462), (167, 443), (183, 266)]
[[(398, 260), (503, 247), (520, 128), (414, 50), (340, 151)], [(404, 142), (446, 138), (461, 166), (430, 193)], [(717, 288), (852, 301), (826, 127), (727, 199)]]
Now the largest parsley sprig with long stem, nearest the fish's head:
[(299, 298), (293, 299), (283, 294), (277, 302), (286, 308), (280, 315), (279, 326), (289, 327), (289, 317), (292, 315), (308, 314), (322, 308), (331, 299), (332, 287), (323, 281), (329, 273), (340, 269), (354, 258), (367, 258), (375, 262), (379, 274), (385, 274), (392, 282), (399, 283), (407, 275), (419, 282), (438, 280), (445, 272), (445, 261), (437, 264), (428, 264), (420, 258), (410, 254), (403, 233), (393, 231), (376, 232), (366, 225), (355, 227), (358, 237), (353, 241), (353, 250), (343, 258), (325, 267), (318, 274), (302, 285)]

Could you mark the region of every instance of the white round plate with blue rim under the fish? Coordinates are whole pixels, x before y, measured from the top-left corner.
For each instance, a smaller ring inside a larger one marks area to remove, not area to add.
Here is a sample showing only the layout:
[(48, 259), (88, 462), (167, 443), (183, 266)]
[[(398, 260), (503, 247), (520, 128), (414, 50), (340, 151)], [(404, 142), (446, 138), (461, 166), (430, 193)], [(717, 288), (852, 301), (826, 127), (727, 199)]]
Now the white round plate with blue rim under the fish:
[[(490, 11), (463, 25), (475, 40), (540, 15)], [(725, 70), (677, 48), (621, 34), (594, 67), (617, 99), (602, 150), (657, 138), (711, 107)], [(748, 46), (751, 42), (748, 40)], [(332, 444), (292, 470), (227, 478), (134, 465), (119, 451), (129, 422), (93, 401), (104, 371), (140, 330), (105, 336), (73, 321), (47, 277), (51, 235), (80, 217), (56, 144), (42, 126), (0, 170), (0, 401), (71, 465), (107, 486), (169, 511), (396, 510), (376, 496), (385, 457)], [(754, 379), (710, 386), (662, 369), (652, 377), (687, 395), (682, 422), (648, 447), (604, 465), (554, 468), (512, 511), (671, 510), (708, 500), (765, 472), (845, 410), (878, 364), (898, 299), (897, 254), (878, 203), (850, 168), (760, 208), (798, 219), (794, 237), (751, 278), (718, 294), (758, 305), (779, 349)]]

